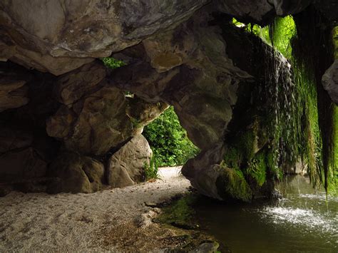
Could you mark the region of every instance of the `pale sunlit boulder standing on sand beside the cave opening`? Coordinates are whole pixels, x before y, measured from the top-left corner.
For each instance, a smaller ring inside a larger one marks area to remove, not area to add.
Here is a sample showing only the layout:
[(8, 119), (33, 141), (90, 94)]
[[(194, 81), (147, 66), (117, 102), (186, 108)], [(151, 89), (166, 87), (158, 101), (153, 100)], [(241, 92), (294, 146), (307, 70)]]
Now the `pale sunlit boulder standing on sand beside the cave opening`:
[(150, 164), (152, 151), (143, 135), (123, 145), (108, 162), (108, 185), (126, 187), (145, 180), (144, 165)]

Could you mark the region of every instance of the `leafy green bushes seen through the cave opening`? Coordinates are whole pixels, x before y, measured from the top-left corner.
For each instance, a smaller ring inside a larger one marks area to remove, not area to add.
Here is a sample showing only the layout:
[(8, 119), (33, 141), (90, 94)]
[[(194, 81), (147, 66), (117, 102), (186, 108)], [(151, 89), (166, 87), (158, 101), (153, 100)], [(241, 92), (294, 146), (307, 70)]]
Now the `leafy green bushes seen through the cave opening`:
[(153, 150), (158, 166), (183, 165), (200, 151), (188, 139), (173, 106), (147, 125), (143, 135)]

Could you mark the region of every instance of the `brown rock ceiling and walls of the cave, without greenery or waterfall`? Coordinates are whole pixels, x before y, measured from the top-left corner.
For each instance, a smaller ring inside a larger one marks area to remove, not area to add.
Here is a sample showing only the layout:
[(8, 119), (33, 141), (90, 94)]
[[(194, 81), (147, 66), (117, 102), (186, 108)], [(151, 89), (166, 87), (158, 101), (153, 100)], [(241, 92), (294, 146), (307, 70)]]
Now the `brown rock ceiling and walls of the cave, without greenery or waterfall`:
[[(230, 23), (235, 17), (268, 24), (309, 4), (1, 1), (0, 187), (94, 192), (140, 182), (151, 154), (140, 133), (170, 104), (202, 150), (183, 168), (193, 186), (218, 199), (268, 195), (272, 178), (265, 170), (264, 181), (244, 177), (225, 155), (249, 135), (250, 155), (238, 161), (265, 157), (266, 119), (257, 120), (262, 108), (255, 99), (268, 103), (265, 63), (276, 56)], [(110, 70), (98, 60), (106, 56), (127, 65)], [(323, 83), (335, 100), (332, 78), (328, 71)]]

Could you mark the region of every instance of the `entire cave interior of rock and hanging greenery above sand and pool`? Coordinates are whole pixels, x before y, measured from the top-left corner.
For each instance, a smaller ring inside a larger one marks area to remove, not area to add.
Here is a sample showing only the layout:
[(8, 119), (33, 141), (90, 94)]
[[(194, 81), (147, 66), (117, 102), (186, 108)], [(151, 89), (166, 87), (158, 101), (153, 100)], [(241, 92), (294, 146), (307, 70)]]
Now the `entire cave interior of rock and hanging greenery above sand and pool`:
[(170, 105), (200, 194), (271, 200), (297, 173), (337, 194), (337, 5), (1, 1), (0, 197), (145, 182), (143, 128)]

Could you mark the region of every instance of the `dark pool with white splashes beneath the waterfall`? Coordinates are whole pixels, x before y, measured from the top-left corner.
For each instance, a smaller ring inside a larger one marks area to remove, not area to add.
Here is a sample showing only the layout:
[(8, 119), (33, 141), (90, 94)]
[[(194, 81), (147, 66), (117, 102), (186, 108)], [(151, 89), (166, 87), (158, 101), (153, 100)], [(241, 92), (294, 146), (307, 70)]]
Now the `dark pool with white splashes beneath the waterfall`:
[(338, 197), (325, 201), (308, 179), (287, 177), (274, 204), (220, 205), (200, 201), (202, 229), (232, 252), (338, 252)]

